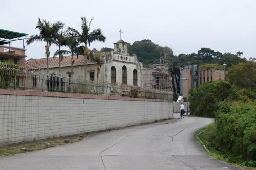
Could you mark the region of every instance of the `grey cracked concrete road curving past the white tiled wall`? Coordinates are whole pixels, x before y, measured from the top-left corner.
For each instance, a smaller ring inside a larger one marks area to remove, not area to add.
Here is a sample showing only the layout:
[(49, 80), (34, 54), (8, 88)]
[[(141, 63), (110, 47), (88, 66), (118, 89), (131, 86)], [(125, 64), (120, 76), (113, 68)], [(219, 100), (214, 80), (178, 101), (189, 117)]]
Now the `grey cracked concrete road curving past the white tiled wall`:
[(2, 156), (0, 169), (237, 169), (206, 155), (194, 139), (195, 130), (211, 122), (185, 117), (98, 133), (74, 144)]

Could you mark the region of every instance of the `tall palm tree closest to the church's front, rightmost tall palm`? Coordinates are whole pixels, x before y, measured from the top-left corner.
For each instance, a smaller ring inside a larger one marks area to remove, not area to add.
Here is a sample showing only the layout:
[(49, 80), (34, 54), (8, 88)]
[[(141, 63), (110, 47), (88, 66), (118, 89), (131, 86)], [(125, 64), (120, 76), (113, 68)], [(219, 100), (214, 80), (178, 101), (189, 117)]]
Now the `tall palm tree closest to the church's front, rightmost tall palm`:
[(90, 56), (90, 51), (88, 50), (87, 45), (90, 46), (90, 44), (94, 41), (105, 42), (106, 37), (102, 35), (100, 28), (93, 29), (93, 31), (90, 32), (90, 26), (93, 18), (91, 19), (89, 24), (86, 20), (86, 17), (81, 17), (81, 20), (82, 20), (81, 33), (76, 29), (70, 28), (70, 27), (68, 27), (68, 30), (71, 35), (78, 37), (78, 41), (84, 45), (84, 48), (83, 48), (83, 57), (85, 60), (84, 69), (85, 69), (85, 78), (87, 79), (87, 76), (86, 76), (87, 75), (87, 59)]

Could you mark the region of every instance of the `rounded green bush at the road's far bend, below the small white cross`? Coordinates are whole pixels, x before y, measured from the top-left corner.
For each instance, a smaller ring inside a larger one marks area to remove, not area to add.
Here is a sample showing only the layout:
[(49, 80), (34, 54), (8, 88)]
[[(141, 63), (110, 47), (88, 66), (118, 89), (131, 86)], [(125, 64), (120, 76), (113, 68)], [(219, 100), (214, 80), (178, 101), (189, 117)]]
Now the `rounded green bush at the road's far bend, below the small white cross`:
[(232, 92), (230, 83), (224, 80), (205, 82), (189, 91), (190, 111), (193, 115), (214, 117), (218, 102), (228, 99)]

